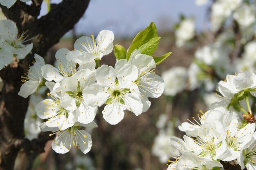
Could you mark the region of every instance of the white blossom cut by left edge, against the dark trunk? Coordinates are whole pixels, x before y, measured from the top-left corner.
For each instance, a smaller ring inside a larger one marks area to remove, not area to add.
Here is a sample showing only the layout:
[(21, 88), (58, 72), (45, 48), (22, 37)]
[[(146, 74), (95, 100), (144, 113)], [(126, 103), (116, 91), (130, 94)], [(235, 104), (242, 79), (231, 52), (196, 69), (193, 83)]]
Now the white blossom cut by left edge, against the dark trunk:
[(12, 20), (0, 20), (0, 70), (13, 61), (13, 57), (24, 59), (32, 50), (33, 43), (27, 42), (26, 32), (18, 34), (18, 28)]

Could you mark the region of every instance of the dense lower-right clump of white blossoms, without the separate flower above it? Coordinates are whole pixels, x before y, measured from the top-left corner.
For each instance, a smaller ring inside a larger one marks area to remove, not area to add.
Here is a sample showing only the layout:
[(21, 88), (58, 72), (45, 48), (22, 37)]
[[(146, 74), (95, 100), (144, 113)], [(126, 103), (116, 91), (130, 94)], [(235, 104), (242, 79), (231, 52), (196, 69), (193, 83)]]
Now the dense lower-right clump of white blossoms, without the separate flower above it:
[(255, 123), (243, 126), (236, 114), (225, 107), (202, 113), (198, 119), (193, 117), (179, 129), (186, 135), (184, 140), (171, 137), (174, 160), (169, 161), (170, 169), (223, 167), (218, 160), (236, 161), (242, 168), (254, 166), (255, 157), (251, 155), (255, 156)]

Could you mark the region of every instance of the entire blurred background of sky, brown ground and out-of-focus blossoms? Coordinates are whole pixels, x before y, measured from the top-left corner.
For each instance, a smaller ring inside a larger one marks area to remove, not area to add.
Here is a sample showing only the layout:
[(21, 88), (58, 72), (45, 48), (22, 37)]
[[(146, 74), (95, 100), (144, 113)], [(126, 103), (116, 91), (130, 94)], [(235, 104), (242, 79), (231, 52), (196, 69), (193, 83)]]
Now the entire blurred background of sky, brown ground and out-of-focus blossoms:
[[(40, 16), (49, 4), (59, 2), (45, 0)], [(114, 32), (114, 45), (128, 49), (134, 36), (153, 21), (162, 37), (154, 56), (173, 52), (156, 68), (166, 82), (164, 94), (150, 98), (150, 109), (140, 116), (126, 112), (118, 125), (104, 121), (99, 108), (99, 127), (91, 132), (88, 154), (76, 148), (57, 154), (49, 141), (36, 158), (22, 159), (20, 152), (17, 165), (25, 161), (34, 170), (166, 170), (170, 137), (184, 135), (178, 125), (218, 101), (217, 83), (227, 74), (255, 70), (255, 9), (254, 0), (91, 0), (74, 29), (48, 51), (46, 63), (54, 63), (58, 49), (71, 50), (80, 36), (103, 29)], [(100, 64), (114, 66), (115, 60), (112, 52)], [(39, 94), (31, 97), (25, 120), (29, 139), (40, 132), (33, 110), (36, 100), (42, 100)]]

